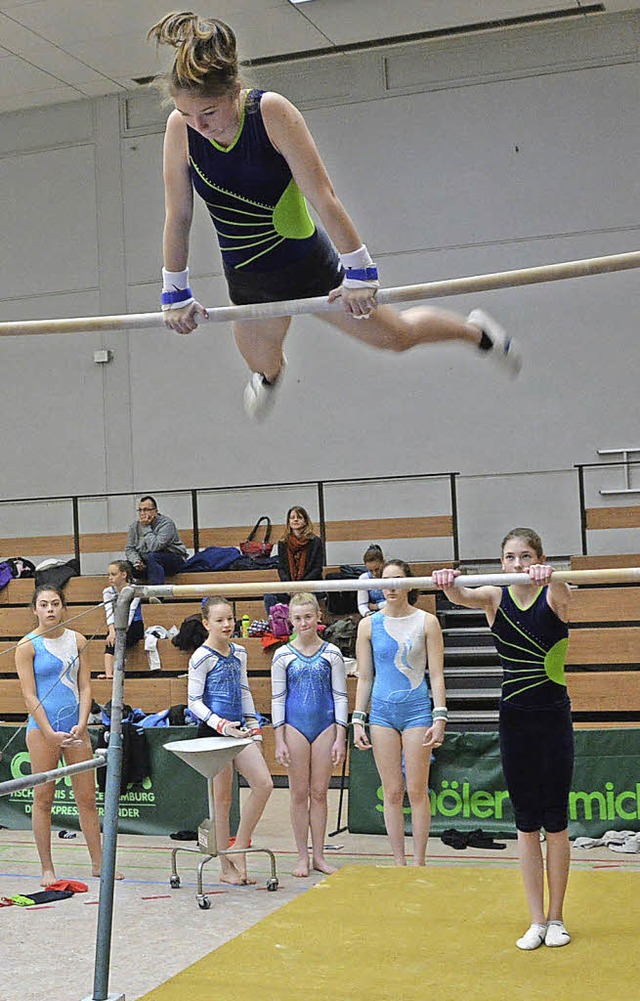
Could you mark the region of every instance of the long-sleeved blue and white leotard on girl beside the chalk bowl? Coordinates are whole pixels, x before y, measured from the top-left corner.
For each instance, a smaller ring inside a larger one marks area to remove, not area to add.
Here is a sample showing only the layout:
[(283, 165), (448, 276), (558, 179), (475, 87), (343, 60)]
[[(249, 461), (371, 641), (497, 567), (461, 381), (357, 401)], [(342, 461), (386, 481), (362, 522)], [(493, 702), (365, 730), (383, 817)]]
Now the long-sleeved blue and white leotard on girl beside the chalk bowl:
[(222, 720), (256, 722), (246, 675), (246, 651), (235, 643), (230, 648), (222, 657), (203, 645), (189, 660), (188, 707), (212, 730)]

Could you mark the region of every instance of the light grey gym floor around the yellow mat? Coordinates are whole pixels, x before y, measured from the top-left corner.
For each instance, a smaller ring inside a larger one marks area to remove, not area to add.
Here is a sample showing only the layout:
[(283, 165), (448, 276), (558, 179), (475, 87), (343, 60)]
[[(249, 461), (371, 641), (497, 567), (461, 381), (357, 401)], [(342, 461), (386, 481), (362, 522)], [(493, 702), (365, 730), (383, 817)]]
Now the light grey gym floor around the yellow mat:
[[(336, 818), (337, 794), (332, 793), (330, 830), (336, 827)], [(319, 874), (308, 879), (290, 875), (294, 856), (285, 790), (273, 793), (255, 843), (277, 853), (278, 891), (264, 889), (268, 865), (262, 857), (251, 862), (257, 885), (245, 888), (217, 884), (217, 865), (211, 862), (205, 870), (211, 908), (203, 911), (194, 897), (195, 856), (178, 856), (182, 887), (172, 891), (168, 876), (174, 842), (168, 838), (121, 837), (118, 867), (126, 879), (116, 884), (110, 993), (124, 993), (127, 1001), (134, 1001), (323, 878)], [(339, 867), (391, 863), (384, 837), (344, 832), (328, 838), (328, 844), (334, 849), (328, 851), (328, 858)], [(574, 854), (577, 860), (584, 860), (577, 864), (614, 864), (640, 870), (640, 856), (613, 856), (606, 849)], [(80, 835), (73, 841), (55, 839), (54, 858), (58, 876), (83, 880), (89, 891), (48, 907), (0, 909), (0, 1001), (82, 1001), (92, 996), (98, 881), (89, 875)], [(474, 853), (453, 852), (440, 839), (432, 839), (429, 859), (439, 865), (517, 864), (513, 841), (507, 842), (503, 852)], [(0, 895), (35, 891), (38, 882), (39, 866), (30, 832), (0, 831)], [(228, 997), (245, 1001), (240, 994), (230, 989)]]

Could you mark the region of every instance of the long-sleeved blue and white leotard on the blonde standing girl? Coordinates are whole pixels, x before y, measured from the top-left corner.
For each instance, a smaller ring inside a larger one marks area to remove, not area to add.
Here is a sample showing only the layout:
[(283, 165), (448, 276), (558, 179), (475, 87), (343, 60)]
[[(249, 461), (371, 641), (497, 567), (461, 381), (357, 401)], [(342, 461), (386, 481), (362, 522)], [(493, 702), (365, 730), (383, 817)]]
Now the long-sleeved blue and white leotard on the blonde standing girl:
[(345, 661), (331, 643), (306, 657), (290, 644), (271, 662), (271, 722), (287, 723), (309, 744), (334, 723), (347, 727)]

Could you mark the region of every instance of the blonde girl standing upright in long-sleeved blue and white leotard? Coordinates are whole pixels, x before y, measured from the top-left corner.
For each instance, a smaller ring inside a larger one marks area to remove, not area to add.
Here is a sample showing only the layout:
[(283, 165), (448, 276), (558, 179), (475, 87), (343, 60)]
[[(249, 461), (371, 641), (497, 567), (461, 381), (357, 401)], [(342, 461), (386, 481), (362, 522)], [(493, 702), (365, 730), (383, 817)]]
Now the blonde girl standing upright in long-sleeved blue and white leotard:
[(327, 794), (335, 768), (345, 760), (348, 723), (345, 661), (338, 647), (317, 635), (319, 608), (313, 595), (293, 595), (289, 619), (294, 638), (271, 664), (271, 721), (275, 760), (288, 774), (290, 816), (297, 864), (293, 876), (336, 869), (325, 859)]

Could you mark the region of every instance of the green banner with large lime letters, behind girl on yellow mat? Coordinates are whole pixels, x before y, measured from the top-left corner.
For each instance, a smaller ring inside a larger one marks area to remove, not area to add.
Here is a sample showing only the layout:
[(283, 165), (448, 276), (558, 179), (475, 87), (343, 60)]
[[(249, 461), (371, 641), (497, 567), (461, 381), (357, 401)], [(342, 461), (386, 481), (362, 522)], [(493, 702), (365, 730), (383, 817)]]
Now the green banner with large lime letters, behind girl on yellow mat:
[[(576, 765), (569, 796), (572, 838), (600, 837), (640, 825), (640, 729), (578, 730)], [(371, 751), (350, 752), (349, 830), (385, 834), (383, 789)], [(505, 787), (498, 734), (453, 733), (436, 754), (430, 773), (432, 831), (447, 828), (515, 835)], [(411, 809), (405, 800), (405, 829)]]

